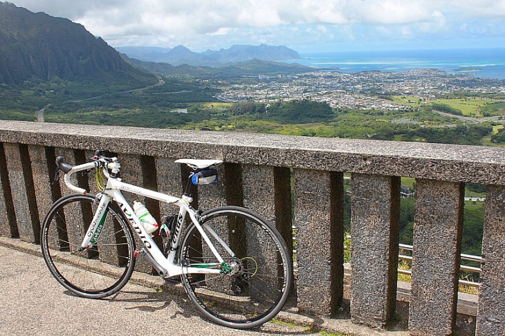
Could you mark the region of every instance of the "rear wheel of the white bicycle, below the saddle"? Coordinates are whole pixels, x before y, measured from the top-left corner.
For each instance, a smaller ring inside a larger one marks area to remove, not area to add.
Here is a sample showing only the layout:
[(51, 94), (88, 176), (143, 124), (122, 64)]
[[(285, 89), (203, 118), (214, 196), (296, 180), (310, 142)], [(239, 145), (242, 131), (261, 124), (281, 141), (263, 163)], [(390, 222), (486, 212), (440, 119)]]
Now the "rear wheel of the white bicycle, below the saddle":
[[(282, 236), (265, 218), (241, 207), (211, 209), (202, 214), (201, 224), (224, 261), (236, 262), (239, 271), (181, 275), (190, 300), (205, 317), (223, 326), (246, 329), (270, 321), (286, 303), (293, 281), (293, 263)], [(235, 257), (205, 225), (230, 245)], [(183, 266), (220, 267), (194, 223), (187, 227), (178, 256)]]

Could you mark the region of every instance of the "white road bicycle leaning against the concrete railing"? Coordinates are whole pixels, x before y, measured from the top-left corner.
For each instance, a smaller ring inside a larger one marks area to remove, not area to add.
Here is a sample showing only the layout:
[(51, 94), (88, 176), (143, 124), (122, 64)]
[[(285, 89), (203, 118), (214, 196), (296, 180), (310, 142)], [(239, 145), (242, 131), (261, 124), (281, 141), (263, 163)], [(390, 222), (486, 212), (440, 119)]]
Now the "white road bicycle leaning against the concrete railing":
[[(221, 160), (176, 160), (192, 169), (177, 198), (122, 182), (120, 162), (109, 156), (99, 150), (91, 162), (76, 166), (56, 159), (56, 176), (63, 171), (66, 187), (75, 194), (48, 209), (41, 246), (50, 273), (64, 288), (80, 297), (109, 297), (125, 286), (144, 254), (160, 277), (180, 277), (190, 301), (210, 321), (245, 329), (277, 315), (293, 281), (291, 256), (279, 232), (250, 209), (222, 206), (200, 212), (191, 206), (195, 186), (215, 183)], [(97, 194), (71, 180), (72, 174), (93, 169)], [(178, 206), (178, 214), (167, 216), (158, 229), (163, 251), (122, 191)], [(132, 228), (142, 248), (136, 248)]]

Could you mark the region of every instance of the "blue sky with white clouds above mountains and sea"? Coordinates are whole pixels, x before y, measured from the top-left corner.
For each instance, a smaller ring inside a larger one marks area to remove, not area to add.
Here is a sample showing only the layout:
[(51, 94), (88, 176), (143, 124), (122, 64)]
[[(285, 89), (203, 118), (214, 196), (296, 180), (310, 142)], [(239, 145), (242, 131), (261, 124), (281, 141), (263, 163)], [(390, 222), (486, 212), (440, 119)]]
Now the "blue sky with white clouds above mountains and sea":
[(299, 53), (505, 47), (505, 0), (11, 0), (111, 46), (288, 46)]

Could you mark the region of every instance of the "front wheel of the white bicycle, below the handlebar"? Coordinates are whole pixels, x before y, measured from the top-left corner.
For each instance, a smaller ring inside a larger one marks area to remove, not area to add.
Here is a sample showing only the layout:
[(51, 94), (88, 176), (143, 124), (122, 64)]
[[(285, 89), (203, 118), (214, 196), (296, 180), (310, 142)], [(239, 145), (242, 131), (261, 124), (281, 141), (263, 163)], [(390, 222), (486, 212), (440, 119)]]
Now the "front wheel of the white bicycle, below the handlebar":
[(97, 206), (92, 194), (64, 196), (50, 207), (41, 230), (42, 256), (50, 273), (67, 290), (91, 299), (118, 292), (135, 267), (134, 237), (116, 203), (107, 206), (97, 243), (78, 251)]

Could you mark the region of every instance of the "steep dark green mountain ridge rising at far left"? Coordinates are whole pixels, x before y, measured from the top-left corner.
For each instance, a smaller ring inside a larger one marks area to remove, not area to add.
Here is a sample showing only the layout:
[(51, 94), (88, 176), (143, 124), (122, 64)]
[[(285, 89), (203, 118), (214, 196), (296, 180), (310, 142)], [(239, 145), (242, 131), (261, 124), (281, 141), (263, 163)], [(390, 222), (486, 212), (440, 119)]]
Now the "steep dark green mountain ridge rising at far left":
[(0, 2), (0, 83), (91, 81), (153, 84), (152, 74), (127, 64), (119, 53), (84, 26)]

